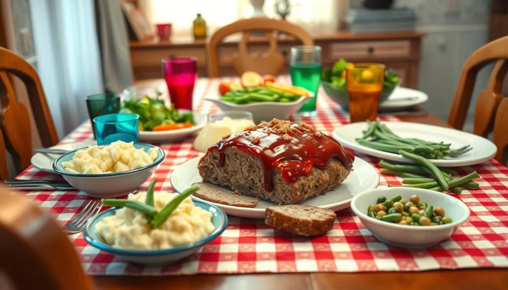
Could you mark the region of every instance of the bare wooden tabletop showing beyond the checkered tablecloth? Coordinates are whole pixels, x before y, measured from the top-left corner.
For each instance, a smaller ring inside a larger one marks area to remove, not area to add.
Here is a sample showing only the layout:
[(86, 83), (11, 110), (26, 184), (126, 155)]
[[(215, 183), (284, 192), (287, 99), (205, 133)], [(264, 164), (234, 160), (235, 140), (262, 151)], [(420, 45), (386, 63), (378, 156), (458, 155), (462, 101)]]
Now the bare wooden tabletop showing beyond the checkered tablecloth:
[[(137, 85), (160, 85), (161, 80), (141, 81)], [(399, 117), (402, 121), (438, 126), (449, 125), (428, 113), (426, 116)], [(266, 274), (200, 274), (182, 276), (93, 276), (98, 289), (314, 289), (314, 290), (466, 290), (508, 289), (508, 269), (459, 269), (419, 272), (361, 273), (266, 273)]]

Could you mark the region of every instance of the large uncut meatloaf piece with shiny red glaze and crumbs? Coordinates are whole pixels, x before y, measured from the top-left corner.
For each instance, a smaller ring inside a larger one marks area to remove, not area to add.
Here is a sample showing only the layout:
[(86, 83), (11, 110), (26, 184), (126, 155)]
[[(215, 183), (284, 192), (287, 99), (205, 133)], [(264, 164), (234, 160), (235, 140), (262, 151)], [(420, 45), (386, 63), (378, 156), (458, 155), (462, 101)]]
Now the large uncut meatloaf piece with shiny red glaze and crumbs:
[(275, 204), (295, 204), (339, 186), (354, 155), (311, 125), (273, 119), (225, 136), (201, 158), (204, 182)]

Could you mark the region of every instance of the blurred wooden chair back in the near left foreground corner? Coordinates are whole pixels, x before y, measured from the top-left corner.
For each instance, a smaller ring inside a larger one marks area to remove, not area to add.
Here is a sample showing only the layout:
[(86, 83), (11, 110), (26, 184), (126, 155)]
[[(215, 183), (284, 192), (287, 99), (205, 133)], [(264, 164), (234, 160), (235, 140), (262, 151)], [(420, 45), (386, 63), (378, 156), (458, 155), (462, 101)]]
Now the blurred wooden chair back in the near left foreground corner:
[(1, 289), (93, 289), (76, 250), (51, 213), (4, 187), (0, 257)]

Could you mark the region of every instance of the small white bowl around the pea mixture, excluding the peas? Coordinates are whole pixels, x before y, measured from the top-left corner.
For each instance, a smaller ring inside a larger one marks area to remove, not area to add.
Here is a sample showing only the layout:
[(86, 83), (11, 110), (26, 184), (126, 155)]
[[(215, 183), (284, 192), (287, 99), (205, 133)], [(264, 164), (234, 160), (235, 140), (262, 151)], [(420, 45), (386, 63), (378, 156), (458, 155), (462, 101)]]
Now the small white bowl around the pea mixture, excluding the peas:
[[(447, 223), (409, 225), (399, 224), (400, 220), (389, 222), (369, 216), (369, 206), (376, 205), (379, 197), (391, 200), (400, 196), (400, 200), (409, 201), (411, 196), (415, 195), (419, 197), (421, 203), (427, 203), (428, 207), (442, 208), (448, 218)], [(470, 215), (467, 205), (458, 198), (429, 189), (410, 187), (378, 187), (363, 191), (353, 198), (351, 209), (360, 218), (364, 227), (379, 241), (409, 249), (432, 247), (450, 238)]]

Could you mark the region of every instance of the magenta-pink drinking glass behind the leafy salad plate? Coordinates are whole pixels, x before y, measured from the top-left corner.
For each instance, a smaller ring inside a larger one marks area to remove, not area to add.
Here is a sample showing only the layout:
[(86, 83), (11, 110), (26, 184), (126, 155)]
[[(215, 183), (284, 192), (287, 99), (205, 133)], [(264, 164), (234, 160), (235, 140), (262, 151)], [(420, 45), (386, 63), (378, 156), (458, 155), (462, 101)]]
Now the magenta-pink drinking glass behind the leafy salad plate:
[(169, 98), (176, 109), (192, 110), (192, 94), (197, 77), (197, 58), (173, 56), (162, 59), (162, 74)]

